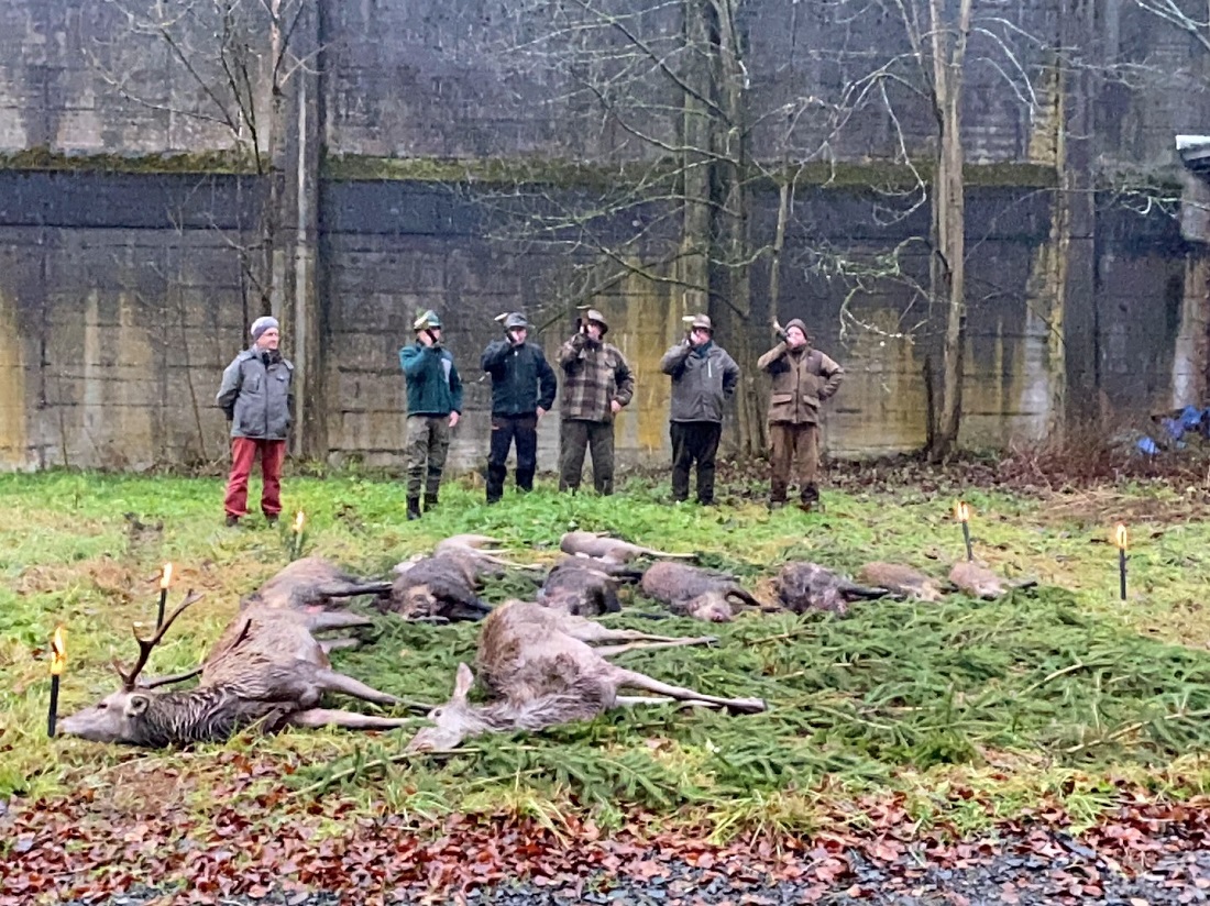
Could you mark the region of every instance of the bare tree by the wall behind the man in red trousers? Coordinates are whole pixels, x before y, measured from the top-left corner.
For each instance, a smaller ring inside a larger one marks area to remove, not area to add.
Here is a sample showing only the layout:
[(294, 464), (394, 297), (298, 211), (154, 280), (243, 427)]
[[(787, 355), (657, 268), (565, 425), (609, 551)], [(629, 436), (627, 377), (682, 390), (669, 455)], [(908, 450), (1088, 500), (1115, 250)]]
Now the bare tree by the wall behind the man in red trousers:
[[(104, 1), (126, 31), (110, 44), (97, 42), (92, 59), (102, 79), (128, 103), (162, 114), (171, 133), (184, 134), (169, 134), (169, 143), (224, 152), (235, 172), (252, 174), (249, 185), (263, 190), (249, 200), (255, 223), (241, 224), (234, 236), (224, 232), (224, 240), (238, 262), (244, 319), (272, 313), (293, 333), (304, 383), (298, 394), (306, 434), (301, 448), (322, 452), (322, 422), (307, 431), (321, 417), (311, 405), (319, 396), (319, 344), (310, 314), (315, 218), (309, 214), (318, 152), (317, 138), (309, 142), (307, 134), (317, 135), (317, 125), (306, 117), (315, 96), (307, 99), (302, 85), (315, 75), (321, 51), (319, 11), (307, 0)], [(132, 42), (131, 35), (145, 41)], [(163, 82), (149, 82), (145, 68), (136, 65), (146, 57), (146, 41), (165, 52)], [(289, 104), (294, 97), (296, 109)], [(292, 163), (298, 180), (286, 179)], [(241, 187), (241, 210), (243, 204)]]

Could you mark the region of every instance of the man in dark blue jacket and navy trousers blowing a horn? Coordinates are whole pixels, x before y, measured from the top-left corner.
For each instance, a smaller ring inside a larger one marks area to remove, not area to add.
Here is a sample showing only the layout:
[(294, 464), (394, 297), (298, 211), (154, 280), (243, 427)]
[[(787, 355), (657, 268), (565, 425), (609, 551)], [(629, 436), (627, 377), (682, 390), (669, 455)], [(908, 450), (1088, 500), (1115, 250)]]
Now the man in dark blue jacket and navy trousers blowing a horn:
[(488, 503), (505, 492), (508, 449), (517, 440), (517, 487), (534, 490), (537, 422), (554, 405), (554, 369), (537, 346), (525, 342), (529, 322), (520, 312), (505, 316), (505, 335), (483, 351), (491, 375), (491, 450), (488, 452)]

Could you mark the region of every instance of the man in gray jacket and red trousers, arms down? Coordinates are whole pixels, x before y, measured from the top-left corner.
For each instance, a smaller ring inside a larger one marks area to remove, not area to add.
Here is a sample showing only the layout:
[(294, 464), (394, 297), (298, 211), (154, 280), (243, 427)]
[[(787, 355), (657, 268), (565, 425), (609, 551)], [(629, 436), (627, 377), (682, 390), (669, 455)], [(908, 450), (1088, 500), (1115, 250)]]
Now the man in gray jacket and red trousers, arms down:
[(294, 411), (294, 365), (282, 358), (276, 318), (252, 323), (252, 346), (223, 373), (215, 403), (231, 422), (231, 475), (223, 508), (226, 524), (238, 525), (248, 513), (248, 475), (260, 454), (260, 512), (272, 525), (282, 512), (282, 463)]

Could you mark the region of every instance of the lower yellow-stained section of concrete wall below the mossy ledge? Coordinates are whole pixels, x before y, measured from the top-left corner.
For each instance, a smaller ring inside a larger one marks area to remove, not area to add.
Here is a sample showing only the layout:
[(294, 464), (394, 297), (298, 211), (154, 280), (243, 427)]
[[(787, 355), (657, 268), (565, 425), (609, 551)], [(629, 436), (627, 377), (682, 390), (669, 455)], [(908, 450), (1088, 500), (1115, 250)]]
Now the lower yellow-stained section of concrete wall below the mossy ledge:
[[(415, 311), (436, 307), (467, 385), (454, 461), (482, 464), (490, 397), (478, 357), (496, 336), (492, 317), (525, 308), (547, 324), (538, 339), (553, 357), (572, 321), (553, 294), (566, 259), (512, 254), (488, 241), (476, 206), (446, 187), (329, 183), (324, 196), (333, 458), (399, 463), (405, 397), (398, 348), (410, 340)], [(0, 197), (23, 200), (0, 206), (5, 467), (139, 468), (218, 458), (226, 426), (213, 394), (248, 322), (230, 241), (255, 197), (249, 186), (231, 177), (7, 174)], [(819, 190), (802, 203), (809, 229), (789, 237), (788, 256), (800, 266), (786, 269), (779, 313), (783, 321), (803, 317), (819, 346), (848, 370), (829, 412), (830, 450), (914, 449), (924, 435), (923, 353), (938, 342), (916, 327), (922, 302), (906, 283), (883, 282), (842, 317), (847, 285), (801, 261), (809, 260), (809, 243), (842, 236), (872, 255), (918, 224), (869, 226), (859, 212), (870, 200), (853, 192)], [(1051, 416), (1049, 327), (1026, 288), (1048, 237), (1047, 194), (973, 192), (970, 218), (978, 250), (969, 276), (963, 440), (1038, 437)], [(114, 220), (125, 225), (106, 225)], [(1104, 223), (1096, 383), (1117, 409), (1165, 406), (1176, 337), (1192, 317), (1182, 299), (1183, 243), (1176, 224), (1162, 217), (1110, 210)], [(923, 276), (926, 261), (905, 259), (905, 269)], [(764, 293), (759, 276), (755, 290)], [(620, 422), (621, 449), (630, 458), (663, 456), (669, 385), (658, 359), (675, 339), (680, 302), (632, 281), (595, 304), (638, 373), (635, 404)], [(726, 336), (719, 340), (727, 345)], [(289, 346), (287, 336), (287, 352)], [(540, 437), (541, 463), (553, 467), (554, 417)]]

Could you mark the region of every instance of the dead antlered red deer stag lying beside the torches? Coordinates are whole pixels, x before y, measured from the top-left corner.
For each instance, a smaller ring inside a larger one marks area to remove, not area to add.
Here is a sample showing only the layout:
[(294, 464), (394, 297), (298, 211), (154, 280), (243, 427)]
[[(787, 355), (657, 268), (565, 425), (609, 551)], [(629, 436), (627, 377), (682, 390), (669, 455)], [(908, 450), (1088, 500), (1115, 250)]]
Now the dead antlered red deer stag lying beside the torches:
[(381, 705), (422, 708), (332, 669), (323, 644), (311, 634), (369, 624), (364, 617), (339, 611), (307, 613), (250, 606), (227, 625), (211, 650), (196, 688), (155, 691), (188, 675), (140, 683), (138, 677), (151, 651), (177, 617), (200, 598), (190, 592), (150, 639), (136, 631), (139, 658), (134, 666), (123, 670), (114, 662), (122, 688), (62, 721), (63, 733), (98, 743), (165, 746), (223, 740), (258, 722), (266, 732), (286, 726), (392, 729), (411, 722), (317, 708), (325, 692)]

